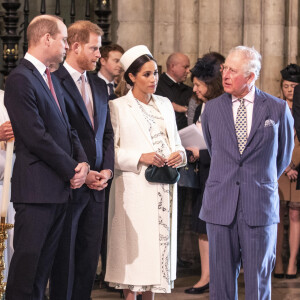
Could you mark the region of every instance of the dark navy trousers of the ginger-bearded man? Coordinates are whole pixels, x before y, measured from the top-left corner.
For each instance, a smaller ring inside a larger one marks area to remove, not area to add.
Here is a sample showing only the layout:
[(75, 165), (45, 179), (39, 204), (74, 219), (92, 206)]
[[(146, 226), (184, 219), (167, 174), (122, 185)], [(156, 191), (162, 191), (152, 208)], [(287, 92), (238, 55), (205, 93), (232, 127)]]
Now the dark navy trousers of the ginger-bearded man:
[(104, 202), (91, 197), (68, 207), (50, 279), (51, 300), (89, 300), (96, 275)]

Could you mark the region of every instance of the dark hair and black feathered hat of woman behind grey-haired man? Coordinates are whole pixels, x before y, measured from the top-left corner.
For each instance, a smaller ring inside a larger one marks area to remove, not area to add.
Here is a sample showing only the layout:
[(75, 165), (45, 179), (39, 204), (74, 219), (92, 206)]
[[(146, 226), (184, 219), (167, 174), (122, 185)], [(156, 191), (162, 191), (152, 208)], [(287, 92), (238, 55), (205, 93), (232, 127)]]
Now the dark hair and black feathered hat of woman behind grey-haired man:
[[(220, 57), (217, 57), (216, 54)], [(197, 60), (194, 68), (191, 70), (192, 80), (196, 77), (207, 85), (207, 92), (204, 95), (207, 100), (216, 98), (224, 93), (220, 72), (220, 67), (223, 63), (222, 57), (219, 53), (207, 53)]]

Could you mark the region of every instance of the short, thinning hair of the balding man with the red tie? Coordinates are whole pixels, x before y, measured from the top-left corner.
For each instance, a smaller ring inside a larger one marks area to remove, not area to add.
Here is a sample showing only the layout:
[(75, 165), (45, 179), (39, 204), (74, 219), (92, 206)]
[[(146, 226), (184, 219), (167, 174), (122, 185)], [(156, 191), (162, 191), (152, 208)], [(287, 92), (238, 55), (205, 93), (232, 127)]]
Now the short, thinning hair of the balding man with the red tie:
[(52, 15), (41, 15), (35, 17), (27, 28), (28, 45), (35, 46), (42, 36), (49, 33), (53, 38), (59, 33), (58, 21), (62, 21), (60, 17)]

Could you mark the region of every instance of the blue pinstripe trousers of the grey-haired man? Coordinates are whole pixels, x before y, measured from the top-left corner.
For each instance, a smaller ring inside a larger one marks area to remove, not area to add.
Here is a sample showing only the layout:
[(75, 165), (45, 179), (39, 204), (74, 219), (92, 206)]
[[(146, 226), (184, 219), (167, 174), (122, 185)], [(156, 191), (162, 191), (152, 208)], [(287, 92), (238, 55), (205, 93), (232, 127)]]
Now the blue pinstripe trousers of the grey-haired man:
[(237, 300), (241, 261), (245, 299), (271, 300), (277, 224), (249, 226), (239, 206), (229, 226), (207, 223), (209, 241), (209, 299)]

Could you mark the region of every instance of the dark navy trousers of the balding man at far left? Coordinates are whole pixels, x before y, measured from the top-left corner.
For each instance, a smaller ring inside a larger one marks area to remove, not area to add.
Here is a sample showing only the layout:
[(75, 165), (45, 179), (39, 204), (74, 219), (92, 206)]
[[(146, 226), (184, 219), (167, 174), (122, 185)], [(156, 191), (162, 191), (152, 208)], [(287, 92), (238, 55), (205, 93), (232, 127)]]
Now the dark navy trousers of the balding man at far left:
[(66, 207), (67, 204), (14, 203), (14, 254), (5, 299), (44, 299)]

